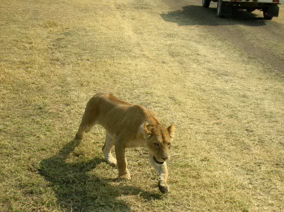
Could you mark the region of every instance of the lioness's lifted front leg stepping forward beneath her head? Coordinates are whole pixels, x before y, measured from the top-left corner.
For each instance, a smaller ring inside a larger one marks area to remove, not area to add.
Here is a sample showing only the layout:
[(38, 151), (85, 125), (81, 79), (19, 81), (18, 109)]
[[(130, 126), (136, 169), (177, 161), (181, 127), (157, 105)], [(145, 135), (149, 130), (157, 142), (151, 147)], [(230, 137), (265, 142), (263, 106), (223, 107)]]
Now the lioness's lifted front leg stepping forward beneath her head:
[(156, 169), (156, 171), (159, 174), (159, 179), (158, 179), (159, 190), (163, 194), (167, 193), (169, 191), (169, 186), (167, 184), (168, 168), (166, 161), (164, 161), (163, 164), (156, 163), (151, 153), (149, 153), (149, 160), (152, 166)]

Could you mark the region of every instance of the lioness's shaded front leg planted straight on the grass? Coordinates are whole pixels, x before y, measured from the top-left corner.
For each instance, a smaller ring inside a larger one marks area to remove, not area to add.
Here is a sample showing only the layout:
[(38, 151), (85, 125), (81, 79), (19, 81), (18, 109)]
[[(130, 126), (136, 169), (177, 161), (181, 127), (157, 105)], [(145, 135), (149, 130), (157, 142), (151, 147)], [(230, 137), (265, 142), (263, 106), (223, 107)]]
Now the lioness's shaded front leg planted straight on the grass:
[(115, 155), (119, 178), (130, 180), (130, 174), (127, 169), (127, 160), (125, 158), (125, 147), (118, 139), (115, 140)]

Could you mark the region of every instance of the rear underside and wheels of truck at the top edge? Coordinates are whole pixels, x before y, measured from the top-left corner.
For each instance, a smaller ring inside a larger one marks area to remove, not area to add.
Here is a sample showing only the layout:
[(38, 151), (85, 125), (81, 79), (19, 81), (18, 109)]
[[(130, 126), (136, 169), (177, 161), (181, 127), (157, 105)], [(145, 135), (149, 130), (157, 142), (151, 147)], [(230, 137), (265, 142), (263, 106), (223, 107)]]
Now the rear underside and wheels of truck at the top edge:
[(245, 9), (247, 12), (259, 9), (263, 11), (266, 20), (278, 17), (278, 4), (283, 3), (283, 0), (202, 0), (202, 6), (208, 8), (211, 1), (217, 2), (217, 17), (231, 15), (233, 8)]

